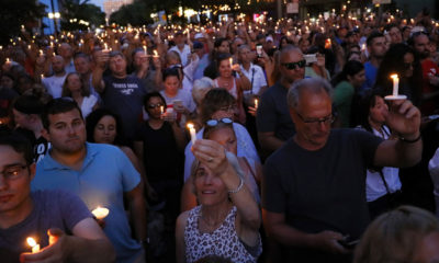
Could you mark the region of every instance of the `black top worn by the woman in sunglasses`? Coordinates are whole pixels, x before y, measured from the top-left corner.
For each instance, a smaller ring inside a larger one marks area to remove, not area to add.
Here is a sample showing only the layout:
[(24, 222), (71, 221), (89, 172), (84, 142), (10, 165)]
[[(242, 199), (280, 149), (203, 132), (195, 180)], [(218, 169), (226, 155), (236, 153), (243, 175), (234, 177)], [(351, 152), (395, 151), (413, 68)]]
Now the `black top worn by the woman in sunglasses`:
[(153, 129), (147, 122), (140, 124), (135, 140), (144, 142), (143, 161), (150, 182), (182, 180), (183, 156), (168, 122), (159, 129)]

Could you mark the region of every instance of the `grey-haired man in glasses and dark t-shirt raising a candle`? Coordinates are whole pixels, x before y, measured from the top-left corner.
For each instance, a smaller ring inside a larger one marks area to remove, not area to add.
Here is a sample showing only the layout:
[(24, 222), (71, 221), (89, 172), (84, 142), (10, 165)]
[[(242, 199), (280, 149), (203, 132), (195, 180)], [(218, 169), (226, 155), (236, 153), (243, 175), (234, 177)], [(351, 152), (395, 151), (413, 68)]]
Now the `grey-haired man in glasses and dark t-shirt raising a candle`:
[(319, 78), (293, 84), (288, 104), (296, 134), (266, 162), (264, 227), (288, 248), (289, 262), (350, 262), (345, 245), (369, 224), (367, 169), (410, 167), (421, 158), (420, 113), (409, 101), (391, 102), (385, 119), (399, 139), (382, 140), (358, 129), (331, 130), (330, 95)]

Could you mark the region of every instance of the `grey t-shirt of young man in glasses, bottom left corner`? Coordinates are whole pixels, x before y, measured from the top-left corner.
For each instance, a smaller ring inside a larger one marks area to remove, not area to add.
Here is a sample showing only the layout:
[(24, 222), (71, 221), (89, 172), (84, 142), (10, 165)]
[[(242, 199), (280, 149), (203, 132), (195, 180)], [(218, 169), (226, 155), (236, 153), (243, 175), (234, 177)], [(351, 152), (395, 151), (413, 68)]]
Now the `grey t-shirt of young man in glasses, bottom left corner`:
[(74, 227), (92, 215), (82, 201), (63, 191), (36, 191), (32, 193), (34, 208), (21, 222), (0, 228), (0, 262), (20, 262), (23, 252), (31, 252), (27, 237), (35, 239), (41, 248), (48, 245), (47, 230), (59, 228), (71, 235)]

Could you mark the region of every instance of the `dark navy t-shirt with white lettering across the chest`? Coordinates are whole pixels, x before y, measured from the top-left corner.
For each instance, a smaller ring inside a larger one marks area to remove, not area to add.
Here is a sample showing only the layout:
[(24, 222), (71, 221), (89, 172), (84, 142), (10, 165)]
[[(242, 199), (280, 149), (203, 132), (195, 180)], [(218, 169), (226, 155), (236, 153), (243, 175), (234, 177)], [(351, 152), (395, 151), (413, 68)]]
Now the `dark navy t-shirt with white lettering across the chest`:
[(105, 90), (102, 93), (104, 106), (116, 113), (122, 119), (125, 137), (132, 140), (136, 124), (142, 119), (143, 99), (146, 94), (140, 79), (127, 76), (117, 79), (104, 77)]

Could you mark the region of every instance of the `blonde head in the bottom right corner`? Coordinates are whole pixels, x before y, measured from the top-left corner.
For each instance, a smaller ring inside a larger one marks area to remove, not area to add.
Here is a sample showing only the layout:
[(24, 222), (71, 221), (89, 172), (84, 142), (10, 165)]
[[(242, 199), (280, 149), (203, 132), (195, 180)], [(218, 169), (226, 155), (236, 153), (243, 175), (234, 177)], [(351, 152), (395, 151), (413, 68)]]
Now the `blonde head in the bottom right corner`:
[(354, 263), (439, 262), (439, 221), (429, 211), (399, 206), (378, 217), (365, 230)]

